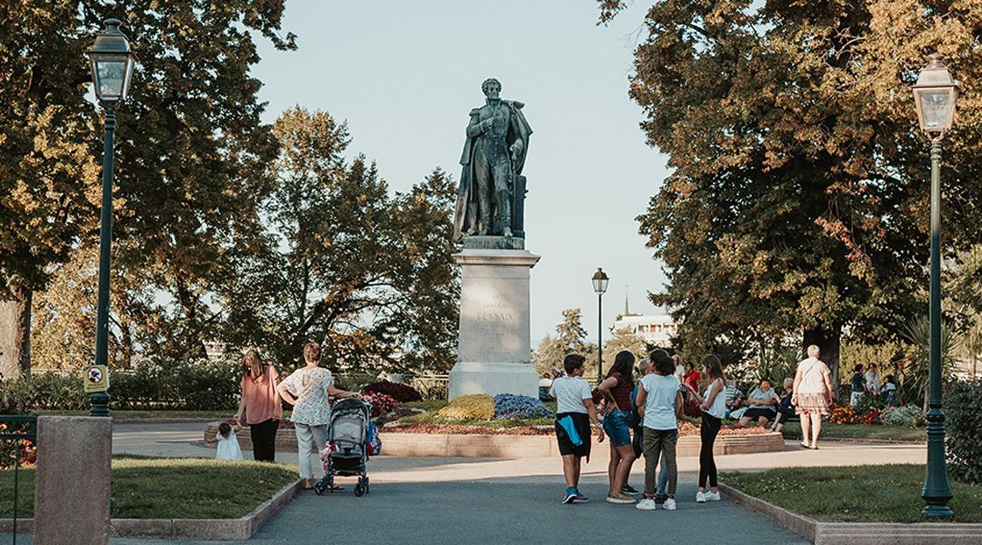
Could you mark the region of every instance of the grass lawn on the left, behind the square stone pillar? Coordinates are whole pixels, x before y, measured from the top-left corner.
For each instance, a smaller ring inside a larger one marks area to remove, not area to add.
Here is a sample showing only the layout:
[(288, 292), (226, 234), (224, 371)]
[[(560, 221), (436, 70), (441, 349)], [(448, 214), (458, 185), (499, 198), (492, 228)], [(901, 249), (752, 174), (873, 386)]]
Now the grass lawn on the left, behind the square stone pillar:
[[(19, 474), (18, 517), (34, 511), (34, 470)], [(238, 519), (297, 480), (297, 468), (204, 458), (113, 460), (113, 518)], [(0, 518), (13, 517), (14, 471), (0, 471)], [(11, 500), (8, 500), (10, 498)]]

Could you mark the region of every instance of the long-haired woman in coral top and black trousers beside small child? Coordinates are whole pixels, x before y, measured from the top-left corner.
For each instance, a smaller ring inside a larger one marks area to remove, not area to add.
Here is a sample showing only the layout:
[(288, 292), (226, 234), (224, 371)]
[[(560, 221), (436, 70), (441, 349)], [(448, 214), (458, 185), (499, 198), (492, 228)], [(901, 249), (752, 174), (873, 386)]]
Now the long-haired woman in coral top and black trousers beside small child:
[(264, 364), (259, 351), (250, 348), (243, 357), (242, 399), (233, 419), (242, 423), (246, 414), (249, 437), (252, 439), (252, 459), (276, 462), (276, 431), (283, 420), (283, 407), (276, 386), (280, 373)]

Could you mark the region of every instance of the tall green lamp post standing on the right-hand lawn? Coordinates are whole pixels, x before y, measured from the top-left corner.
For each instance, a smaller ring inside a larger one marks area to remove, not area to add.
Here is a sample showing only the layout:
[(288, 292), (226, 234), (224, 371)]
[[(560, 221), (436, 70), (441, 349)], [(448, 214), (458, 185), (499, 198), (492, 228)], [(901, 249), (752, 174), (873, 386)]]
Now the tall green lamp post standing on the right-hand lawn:
[(931, 54), (930, 62), (913, 86), (921, 129), (931, 138), (931, 356), (930, 410), (927, 412), (927, 475), (921, 513), (933, 519), (954, 517), (948, 506), (952, 487), (945, 463), (945, 412), (941, 391), (941, 139), (955, 120), (958, 82), (945, 66), (944, 56)]

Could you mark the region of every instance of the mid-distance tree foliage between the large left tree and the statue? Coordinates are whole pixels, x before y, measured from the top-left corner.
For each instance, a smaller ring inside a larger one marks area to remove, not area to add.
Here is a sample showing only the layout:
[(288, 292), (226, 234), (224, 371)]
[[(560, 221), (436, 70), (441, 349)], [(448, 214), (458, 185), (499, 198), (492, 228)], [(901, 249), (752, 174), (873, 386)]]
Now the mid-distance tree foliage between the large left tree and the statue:
[(345, 160), (346, 124), (295, 107), (274, 125), (266, 244), (238, 262), (228, 338), (296, 361), (324, 341), (341, 370), (445, 372), (454, 362), (453, 180), (437, 169), (392, 193), (374, 164)]

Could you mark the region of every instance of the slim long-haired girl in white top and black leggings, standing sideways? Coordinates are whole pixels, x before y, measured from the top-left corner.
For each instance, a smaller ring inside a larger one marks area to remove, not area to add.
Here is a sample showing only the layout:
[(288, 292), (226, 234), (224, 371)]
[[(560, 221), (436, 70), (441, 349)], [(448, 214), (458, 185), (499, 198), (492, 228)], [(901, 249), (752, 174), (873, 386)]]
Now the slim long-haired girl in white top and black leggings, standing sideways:
[[(714, 354), (702, 359), (702, 372), (709, 379), (706, 392), (702, 394), (702, 419), (699, 423), (699, 491), (695, 493), (696, 503), (720, 501), (719, 483), (716, 480), (716, 460), (713, 458), (713, 445), (723, 427), (723, 415), (727, 412), (726, 376), (723, 364)], [(706, 480), (709, 492), (706, 492)]]

